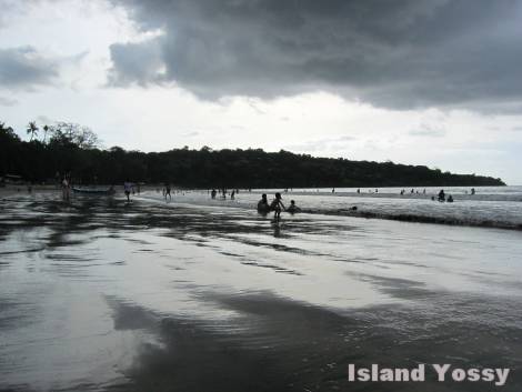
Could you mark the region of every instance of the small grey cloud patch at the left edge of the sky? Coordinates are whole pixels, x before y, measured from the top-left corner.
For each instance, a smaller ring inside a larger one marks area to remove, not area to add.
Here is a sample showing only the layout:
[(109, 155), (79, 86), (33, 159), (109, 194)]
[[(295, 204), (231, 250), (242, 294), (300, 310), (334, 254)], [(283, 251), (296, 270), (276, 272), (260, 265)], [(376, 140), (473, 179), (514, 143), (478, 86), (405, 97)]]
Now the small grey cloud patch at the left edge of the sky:
[(32, 47), (0, 49), (0, 87), (18, 89), (50, 83), (58, 76), (58, 63)]

